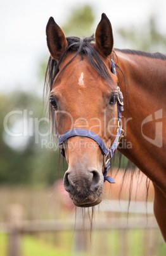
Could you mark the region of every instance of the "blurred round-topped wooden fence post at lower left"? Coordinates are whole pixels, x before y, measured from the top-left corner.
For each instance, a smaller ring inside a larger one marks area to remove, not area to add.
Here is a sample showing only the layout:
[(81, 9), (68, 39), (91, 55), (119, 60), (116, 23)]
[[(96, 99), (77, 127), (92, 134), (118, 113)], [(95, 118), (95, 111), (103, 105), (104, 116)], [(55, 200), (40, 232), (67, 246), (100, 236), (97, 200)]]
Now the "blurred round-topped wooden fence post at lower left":
[(23, 208), (20, 204), (11, 204), (8, 207), (8, 256), (22, 256), (22, 220)]

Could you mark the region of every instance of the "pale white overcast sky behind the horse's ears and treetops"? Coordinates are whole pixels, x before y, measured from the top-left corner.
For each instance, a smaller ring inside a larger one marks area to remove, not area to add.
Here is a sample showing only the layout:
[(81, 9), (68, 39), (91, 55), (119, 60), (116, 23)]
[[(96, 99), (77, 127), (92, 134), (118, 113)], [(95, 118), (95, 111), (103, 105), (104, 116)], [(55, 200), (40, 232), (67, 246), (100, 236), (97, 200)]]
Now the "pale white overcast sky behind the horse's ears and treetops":
[[(165, 0), (2, 0), (0, 4), (0, 92), (9, 94), (15, 89), (42, 91), (37, 78), (39, 62), (48, 58), (46, 24), (53, 16), (63, 25), (73, 9), (93, 6), (98, 25), (101, 13), (106, 13), (113, 31), (148, 22), (155, 15), (158, 30), (166, 34)], [(71, 35), (72, 36), (72, 35)], [(116, 40), (115, 40), (116, 42)], [(117, 45), (115, 45), (117, 46)], [(123, 48), (123, 46), (119, 46)], [(41, 83), (41, 84), (40, 84)]]

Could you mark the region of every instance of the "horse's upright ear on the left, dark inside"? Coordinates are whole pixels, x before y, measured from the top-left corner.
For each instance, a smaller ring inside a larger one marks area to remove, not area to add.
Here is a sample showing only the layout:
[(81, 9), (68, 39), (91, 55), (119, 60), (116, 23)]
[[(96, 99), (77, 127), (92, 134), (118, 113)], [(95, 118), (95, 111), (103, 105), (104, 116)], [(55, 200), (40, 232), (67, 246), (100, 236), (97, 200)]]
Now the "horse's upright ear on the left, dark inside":
[(67, 39), (61, 28), (54, 22), (54, 18), (50, 17), (46, 26), (46, 36), (49, 52), (53, 59), (59, 60), (61, 54), (68, 46)]

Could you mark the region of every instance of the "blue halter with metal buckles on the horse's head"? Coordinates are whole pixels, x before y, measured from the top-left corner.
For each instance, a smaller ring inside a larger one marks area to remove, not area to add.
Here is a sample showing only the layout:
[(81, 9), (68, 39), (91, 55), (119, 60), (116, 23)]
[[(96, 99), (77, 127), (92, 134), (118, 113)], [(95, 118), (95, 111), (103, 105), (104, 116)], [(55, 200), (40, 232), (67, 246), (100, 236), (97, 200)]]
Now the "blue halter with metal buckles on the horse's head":
[[(112, 73), (114, 75), (117, 75), (116, 69), (115, 69), (115, 63), (113, 62), (113, 59), (111, 60), (112, 62)], [(98, 134), (87, 130), (87, 129), (82, 129), (82, 128), (73, 128), (70, 129), (66, 132), (64, 132), (61, 136), (58, 135), (58, 143), (60, 145), (60, 149), (61, 149), (61, 155), (63, 155), (63, 157), (65, 157), (65, 150), (63, 148), (63, 142), (73, 136), (83, 136), (83, 137), (87, 137), (87, 138), (91, 138), (94, 141), (96, 141), (96, 143), (98, 143), (99, 148), (101, 150), (101, 153), (104, 156), (104, 161), (103, 161), (103, 176), (104, 176), (104, 181), (108, 181), (110, 183), (115, 183), (115, 180), (113, 180), (113, 178), (111, 176), (106, 176), (108, 169), (110, 168), (110, 160), (113, 157), (113, 154), (115, 153), (115, 151), (117, 150), (118, 147), (118, 143), (120, 142), (120, 139), (122, 139), (124, 136), (124, 130), (122, 129), (122, 114), (121, 112), (124, 110), (123, 106), (123, 100), (124, 97), (122, 95), (122, 92), (120, 91), (120, 88), (118, 87), (118, 83), (117, 83), (117, 90), (118, 90), (118, 101), (117, 101), (117, 108), (118, 108), (118, 126), (117, 126), (117, 134), (116, 137), (112, 143), (112, 145), (110, 146), (110, 148), (107, 148), (104, 141), (98, 136)]]

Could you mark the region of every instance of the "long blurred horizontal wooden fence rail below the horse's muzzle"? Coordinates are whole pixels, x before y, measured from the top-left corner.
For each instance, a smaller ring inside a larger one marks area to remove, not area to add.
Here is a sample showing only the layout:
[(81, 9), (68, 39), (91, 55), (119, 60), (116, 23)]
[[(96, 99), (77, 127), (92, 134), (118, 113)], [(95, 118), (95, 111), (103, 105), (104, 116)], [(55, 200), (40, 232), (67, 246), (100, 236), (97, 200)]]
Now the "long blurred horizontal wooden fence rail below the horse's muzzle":
[[(11, 232), (52, 232), (52, 231), (82, 231), (82, 221), (79, 220), (73, 223), (74, 220), (23, 220), (20, 224), (10, 224), (3, 223), (0, 224), (0, 232), (10, 234)], [(89, 224), (89, 219), (84, 220), (84, 230), (89, 231), (91, 229), (91, 224)], [(158, 225), (154, 218), (146, 217), (133, 218), (127, 223), (126, 218), (109, 218), (100, 219), (98, 224), (94, 224), (95, 230), (106, 230), (106, 229), (158, 229)]]

